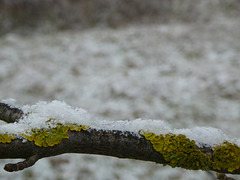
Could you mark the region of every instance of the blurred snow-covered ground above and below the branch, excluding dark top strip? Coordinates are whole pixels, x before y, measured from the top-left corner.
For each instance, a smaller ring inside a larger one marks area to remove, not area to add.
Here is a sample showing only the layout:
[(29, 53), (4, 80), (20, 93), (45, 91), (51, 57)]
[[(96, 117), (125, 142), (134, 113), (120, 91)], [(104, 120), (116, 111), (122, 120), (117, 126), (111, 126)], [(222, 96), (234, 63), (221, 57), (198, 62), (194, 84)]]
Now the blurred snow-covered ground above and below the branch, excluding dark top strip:
[[(0, 38), (0, 99), (60, 100), (99, 119), (159, 119), (239, 137), (240, 21), (152, 24)], [(9, 160), (1, 160), (0, 167)], [(14, 160), (15, 162), (15, 160)], [(0, 179), (212, 179), (211, 173), (89, 155), (43, 159)]]

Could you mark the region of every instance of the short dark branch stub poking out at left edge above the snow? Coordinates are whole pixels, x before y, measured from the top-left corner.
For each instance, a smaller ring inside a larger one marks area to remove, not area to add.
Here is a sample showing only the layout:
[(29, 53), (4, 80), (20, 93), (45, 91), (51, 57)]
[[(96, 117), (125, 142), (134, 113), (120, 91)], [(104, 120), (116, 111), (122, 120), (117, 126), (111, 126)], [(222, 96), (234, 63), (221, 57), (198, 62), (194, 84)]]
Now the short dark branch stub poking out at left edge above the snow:
[(0, 103), (0, 120), (7, 123), (17, 122), (22, 116), (23, 111), (21, 109), (10, 107), (8, 104)]

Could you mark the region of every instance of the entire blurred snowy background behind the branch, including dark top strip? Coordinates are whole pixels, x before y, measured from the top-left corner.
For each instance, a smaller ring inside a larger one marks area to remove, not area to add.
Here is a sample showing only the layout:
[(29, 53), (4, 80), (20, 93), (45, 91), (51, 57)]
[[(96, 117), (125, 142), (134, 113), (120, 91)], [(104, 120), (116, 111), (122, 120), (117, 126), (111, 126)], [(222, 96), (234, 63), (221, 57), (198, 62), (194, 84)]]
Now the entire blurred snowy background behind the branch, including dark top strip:
[[(0, 0), (0, 99), (56, 99), (99, 119), (239, 137), (239, 15), (239, 0)], [(214, 179), (96, 155), (42, 159), (17, 173), (2, 169), (9, 161), (0, 160), (0, 179)]]

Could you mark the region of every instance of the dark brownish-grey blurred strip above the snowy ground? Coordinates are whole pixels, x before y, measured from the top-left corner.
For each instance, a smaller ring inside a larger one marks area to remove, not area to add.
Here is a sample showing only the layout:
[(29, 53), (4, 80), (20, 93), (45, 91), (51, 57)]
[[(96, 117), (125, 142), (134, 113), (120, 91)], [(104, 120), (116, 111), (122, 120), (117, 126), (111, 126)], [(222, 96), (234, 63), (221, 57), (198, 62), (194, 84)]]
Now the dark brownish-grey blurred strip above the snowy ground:
[(239, 4), (239, 0), (0, 0), (0, 33), (206, 22), (221, 14), (239, 16)]

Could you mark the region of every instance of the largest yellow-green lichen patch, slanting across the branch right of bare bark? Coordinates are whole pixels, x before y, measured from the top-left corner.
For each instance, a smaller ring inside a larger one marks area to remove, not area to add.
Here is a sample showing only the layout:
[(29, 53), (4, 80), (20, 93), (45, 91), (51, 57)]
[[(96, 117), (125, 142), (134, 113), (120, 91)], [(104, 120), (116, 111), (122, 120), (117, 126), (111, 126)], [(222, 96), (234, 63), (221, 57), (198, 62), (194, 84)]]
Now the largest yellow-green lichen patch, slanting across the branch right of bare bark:
[(172, 167), (209, 170), (212, 166), (210, 157), (201, 152), (195, 142), (185, 135), (143, 133), (143, 136), (151, 141), (153, 148)]

